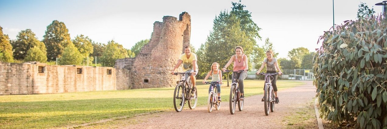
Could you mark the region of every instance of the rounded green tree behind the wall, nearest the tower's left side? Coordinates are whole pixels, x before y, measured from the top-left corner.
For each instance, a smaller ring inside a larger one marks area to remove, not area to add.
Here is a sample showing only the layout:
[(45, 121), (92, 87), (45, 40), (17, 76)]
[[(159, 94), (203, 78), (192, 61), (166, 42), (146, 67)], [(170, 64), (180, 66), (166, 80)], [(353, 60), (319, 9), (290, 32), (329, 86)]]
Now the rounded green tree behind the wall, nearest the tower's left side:
[(127, 55), (128, 53), (122, 45), (111, 40), (106, 45), (100, 60), (103, 66), (114, 67), (117, 59), (125, 58)]

